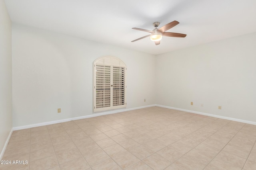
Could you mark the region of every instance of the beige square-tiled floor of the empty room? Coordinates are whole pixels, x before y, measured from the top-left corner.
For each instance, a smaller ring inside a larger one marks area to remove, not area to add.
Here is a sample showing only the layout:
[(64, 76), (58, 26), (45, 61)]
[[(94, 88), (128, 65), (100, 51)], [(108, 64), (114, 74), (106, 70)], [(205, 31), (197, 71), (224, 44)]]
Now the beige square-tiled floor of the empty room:
[[(18, 130), (1, 170), (256, 170), (256, 125), (148, 107)], [(24, 162), (26, 163), (26, 162)]]

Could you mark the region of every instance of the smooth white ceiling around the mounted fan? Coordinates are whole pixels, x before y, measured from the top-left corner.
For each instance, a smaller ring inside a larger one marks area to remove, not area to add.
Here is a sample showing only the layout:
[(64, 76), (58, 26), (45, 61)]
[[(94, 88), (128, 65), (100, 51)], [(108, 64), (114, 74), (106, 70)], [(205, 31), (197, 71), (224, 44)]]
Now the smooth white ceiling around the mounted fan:
[[(256, 0), (5, 0), (14, 23), (154, 55), (256, 32)], [(150, 37), (131, 42), (171, 22), (185, 38)]]

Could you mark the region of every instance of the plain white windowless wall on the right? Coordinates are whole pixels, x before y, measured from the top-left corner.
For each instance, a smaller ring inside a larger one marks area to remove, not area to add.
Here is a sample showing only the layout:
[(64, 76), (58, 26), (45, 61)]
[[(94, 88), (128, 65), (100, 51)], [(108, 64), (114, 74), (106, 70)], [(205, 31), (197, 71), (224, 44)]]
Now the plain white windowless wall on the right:
[(252, 33), (158, 55), (157, 104), (256, 122), (255, 45)]

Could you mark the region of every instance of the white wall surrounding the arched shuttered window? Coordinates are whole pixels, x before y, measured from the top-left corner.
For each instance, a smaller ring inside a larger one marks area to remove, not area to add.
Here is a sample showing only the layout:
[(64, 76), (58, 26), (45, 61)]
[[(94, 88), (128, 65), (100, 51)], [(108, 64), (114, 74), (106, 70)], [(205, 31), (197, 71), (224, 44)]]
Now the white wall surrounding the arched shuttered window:
[(12, 31), (14, 127), (94, 114), (93, 62), (105, 55), (127, 66), (126, 109), (155, 104), (155, 55), (15, 23)]

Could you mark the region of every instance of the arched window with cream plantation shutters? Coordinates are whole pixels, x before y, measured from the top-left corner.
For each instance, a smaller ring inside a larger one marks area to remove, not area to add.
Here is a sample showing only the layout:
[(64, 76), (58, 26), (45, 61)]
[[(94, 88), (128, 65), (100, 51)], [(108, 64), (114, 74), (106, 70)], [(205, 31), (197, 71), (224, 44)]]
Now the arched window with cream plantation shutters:
[(126, 65), (113, 56), (94, 61), (94, 111), (126, 107)]

